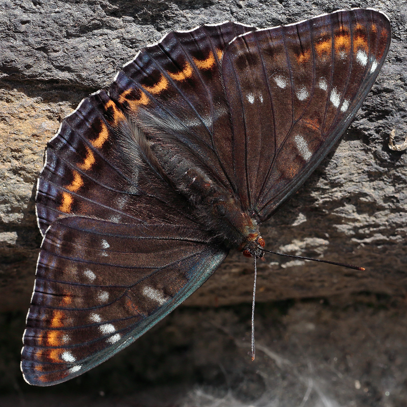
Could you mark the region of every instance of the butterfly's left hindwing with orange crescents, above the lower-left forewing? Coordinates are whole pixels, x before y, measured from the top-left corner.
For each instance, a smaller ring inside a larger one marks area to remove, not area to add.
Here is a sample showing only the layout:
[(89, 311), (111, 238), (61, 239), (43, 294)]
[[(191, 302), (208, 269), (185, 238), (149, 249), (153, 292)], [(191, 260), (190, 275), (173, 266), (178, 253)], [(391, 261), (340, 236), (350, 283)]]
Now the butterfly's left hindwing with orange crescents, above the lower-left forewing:
[(133, 131), (104, 91), (84, 99), (63, 121), (47, 144), (38, 179), (36, 210), (43, 235), (55, 219), (73, 215), (176, 222), (180, 197), (143, 161), (135, 143), (126, 145)]

